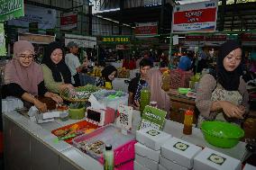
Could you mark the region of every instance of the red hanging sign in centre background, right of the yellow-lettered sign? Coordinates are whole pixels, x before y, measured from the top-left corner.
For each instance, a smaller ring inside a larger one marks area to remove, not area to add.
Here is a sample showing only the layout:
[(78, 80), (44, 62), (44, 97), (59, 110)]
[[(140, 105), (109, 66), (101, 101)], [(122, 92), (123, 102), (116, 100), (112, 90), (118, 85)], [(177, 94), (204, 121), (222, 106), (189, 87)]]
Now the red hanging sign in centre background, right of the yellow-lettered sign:
[(136, 23), (135, 35), (156, 35), (158, 34), (158, 22)]

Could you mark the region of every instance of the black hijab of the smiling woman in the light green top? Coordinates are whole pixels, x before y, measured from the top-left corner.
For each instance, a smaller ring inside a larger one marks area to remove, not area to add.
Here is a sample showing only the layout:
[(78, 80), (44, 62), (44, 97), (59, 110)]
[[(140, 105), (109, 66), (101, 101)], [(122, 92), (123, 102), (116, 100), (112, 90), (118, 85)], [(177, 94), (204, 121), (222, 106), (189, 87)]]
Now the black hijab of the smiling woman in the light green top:
[[(61, 49), (63, 54), (63, 57), (58, 64), (53, 63), (50, 58), (52, 51), (55, 49)], [(69, 67), (65, 64), (64, 58), (65, 58), (64, 49), (62, 49), (62, 46), (59, 42), (54, 41), (54, 42), (50, 42), (50, 44), (47, 46), (44, 56), (41, 60), (41, 63), (45, 64), (47, 67), (50, 68), (53, 79), (56, 82), (61, 82), (62, 81), (61, 76), (62, 76), (65, 84), (71, 84), (71, 73), (69, 71)]]

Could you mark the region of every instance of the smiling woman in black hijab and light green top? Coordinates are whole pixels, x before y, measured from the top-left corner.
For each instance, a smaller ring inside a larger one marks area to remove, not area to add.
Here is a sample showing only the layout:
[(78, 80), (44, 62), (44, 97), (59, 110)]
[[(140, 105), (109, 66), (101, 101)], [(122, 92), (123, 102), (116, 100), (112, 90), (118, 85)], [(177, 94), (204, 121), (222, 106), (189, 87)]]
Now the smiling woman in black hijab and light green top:
[(59, 42), (51, 42), (41, 60), (44, 84), (50, 92), (60, 93), (71, 85), (71, 73), (64, 61), (64, 50)]

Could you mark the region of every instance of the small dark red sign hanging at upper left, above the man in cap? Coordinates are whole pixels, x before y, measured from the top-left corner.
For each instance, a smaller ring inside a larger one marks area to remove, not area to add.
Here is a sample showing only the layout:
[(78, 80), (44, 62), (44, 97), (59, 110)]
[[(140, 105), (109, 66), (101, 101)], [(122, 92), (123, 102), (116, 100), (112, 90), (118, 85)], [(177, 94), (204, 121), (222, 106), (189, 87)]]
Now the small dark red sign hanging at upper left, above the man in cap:
[(60, 29), (70, 30), (78, 27), (78, 13), (61, 13), (60, 16)]

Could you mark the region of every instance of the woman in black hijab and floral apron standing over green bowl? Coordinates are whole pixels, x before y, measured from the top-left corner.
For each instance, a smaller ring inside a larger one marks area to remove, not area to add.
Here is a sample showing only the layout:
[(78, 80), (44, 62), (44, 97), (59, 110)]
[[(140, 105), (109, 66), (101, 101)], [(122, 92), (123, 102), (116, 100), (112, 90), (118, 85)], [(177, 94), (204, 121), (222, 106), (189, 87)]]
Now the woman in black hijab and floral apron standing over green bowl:
[(237, 41), (228, 40), (220, 47), (216, 73), (203, 76), (197, 89), (199, 126), (206, 120), (242, 122), (249, 109), (242, 60), (242, 49)]

